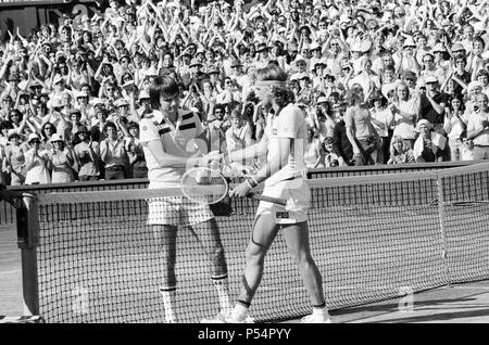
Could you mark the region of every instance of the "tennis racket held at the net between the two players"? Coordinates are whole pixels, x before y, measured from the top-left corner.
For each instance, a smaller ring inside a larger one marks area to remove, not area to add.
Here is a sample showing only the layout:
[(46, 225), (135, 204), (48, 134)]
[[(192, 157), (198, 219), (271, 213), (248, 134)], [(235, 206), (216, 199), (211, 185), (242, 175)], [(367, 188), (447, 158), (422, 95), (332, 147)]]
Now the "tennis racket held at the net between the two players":
[[(184, 195), (201, 204), (216, 204), (224, 200), (229, 193), (229, 184), (224, 175), (218, 170), (206, 167), (197, 167), (184, 174), (180, 181)], [(272, 197), (259, 193), (249, 193), (247, 197), (265, 201), (285, 206), (287, 200)]]

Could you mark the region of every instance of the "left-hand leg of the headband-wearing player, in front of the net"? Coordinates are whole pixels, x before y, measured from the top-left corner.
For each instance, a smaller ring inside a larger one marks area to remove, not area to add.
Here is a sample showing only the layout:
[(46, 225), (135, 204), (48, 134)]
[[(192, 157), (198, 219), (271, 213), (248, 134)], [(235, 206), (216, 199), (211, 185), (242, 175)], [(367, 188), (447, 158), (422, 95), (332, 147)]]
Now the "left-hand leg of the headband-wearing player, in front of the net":
[(272, 213), (259, 214), (254, 220), (253, 231), (246, 251), (246, 266), (242, 288), (238, 303), (233, 309), (228, 322), (246, 322), (248, 309), (262, 281), (266, 253), (274, 242), (278, 226)]

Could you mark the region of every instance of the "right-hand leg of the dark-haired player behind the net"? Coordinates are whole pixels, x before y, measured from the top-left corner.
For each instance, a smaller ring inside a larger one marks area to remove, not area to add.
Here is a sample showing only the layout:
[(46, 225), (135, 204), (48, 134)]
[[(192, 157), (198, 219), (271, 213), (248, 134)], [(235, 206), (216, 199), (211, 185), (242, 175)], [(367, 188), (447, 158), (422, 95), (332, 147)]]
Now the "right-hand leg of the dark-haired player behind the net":
[[(211, 281), (217, 291), (220, 298), (220, 314), (215, 321), (224, 321), (224, 318), (231, 310), (229, 297), (229, 283), (227, 274), (227, 263), (224, 253), (223, 242), (215, 218), (192, 226), (193, 232), (202, 245), (211, 263)], [(214, 319), (204, 319), (203, 322), (213, 322)]]

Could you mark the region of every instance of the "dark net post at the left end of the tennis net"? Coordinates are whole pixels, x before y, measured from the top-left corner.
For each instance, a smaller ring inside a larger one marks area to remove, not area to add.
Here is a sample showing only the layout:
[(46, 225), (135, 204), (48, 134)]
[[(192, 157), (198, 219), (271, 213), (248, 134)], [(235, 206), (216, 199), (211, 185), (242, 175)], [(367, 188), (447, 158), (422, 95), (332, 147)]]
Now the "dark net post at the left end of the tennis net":
[(39, 225), (37, 202), (25, 196), (16, 209), (17, 245), (22, 257), (22, 291), (24, 316), (39, 315), (39, 285), (37, 273), (37, 246), (39, 245)]

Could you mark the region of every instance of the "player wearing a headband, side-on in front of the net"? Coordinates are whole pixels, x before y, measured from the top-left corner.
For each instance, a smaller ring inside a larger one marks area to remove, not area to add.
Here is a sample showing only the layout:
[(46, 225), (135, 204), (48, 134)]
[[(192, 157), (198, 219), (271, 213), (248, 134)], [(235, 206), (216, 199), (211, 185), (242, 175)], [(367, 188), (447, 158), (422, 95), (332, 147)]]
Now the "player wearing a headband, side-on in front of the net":
[[(271, 114), (262, 140), (229, 155), (214, 155), (226, 164), (266, 155), (266, 164), (255, 176), (237, 186), (230, 196), (246, 196), (256, 184), (265, 182), (263, 195), (287, 200), (286, 206), (260, 202), (246, 252), (242, 291), (226, 322), (247, 321), (248, 309), (262, 280), (265, 255), (279, 230), (299, 267), (313, 305), (312, 315), (304, 317), (302, 322), (330, 322), (323, 295), (322, 277), (311, 256), (309, 244), (308, 209), (311, 192), (302, 174), (305, 167), (306, 123), (302, 111), (292, 104), (294, 98), (287, 86), (287, 74), (275, 65), (258, 71), (256, 93)], [(210, 154), (209, 158), (211, 157)]]

